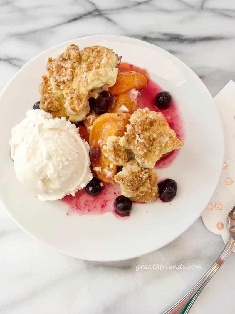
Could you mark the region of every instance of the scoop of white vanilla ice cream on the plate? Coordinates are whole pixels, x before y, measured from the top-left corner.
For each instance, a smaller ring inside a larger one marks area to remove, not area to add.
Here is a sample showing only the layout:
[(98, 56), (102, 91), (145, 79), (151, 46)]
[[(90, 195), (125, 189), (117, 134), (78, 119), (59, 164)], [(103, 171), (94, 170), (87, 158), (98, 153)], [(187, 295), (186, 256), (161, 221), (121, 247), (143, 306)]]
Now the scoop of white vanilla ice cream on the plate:
[(65, 117), (29, 110), (9, 143), (18, 180), (40, 200), (74, 196), (92, 179), (89, 145)]

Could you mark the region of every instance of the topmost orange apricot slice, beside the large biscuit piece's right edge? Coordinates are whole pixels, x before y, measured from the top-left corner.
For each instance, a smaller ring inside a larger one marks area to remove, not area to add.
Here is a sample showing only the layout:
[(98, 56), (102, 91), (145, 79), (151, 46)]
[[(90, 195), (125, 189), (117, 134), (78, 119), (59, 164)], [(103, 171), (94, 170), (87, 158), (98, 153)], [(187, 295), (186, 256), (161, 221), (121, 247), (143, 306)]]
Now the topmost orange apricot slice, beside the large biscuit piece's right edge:
[(109, 88), (111, 95), (119, 95), (129, 90), (142, 89), (147, 86), (147, 78), (138, 72), (119, 72), (116, 83)]

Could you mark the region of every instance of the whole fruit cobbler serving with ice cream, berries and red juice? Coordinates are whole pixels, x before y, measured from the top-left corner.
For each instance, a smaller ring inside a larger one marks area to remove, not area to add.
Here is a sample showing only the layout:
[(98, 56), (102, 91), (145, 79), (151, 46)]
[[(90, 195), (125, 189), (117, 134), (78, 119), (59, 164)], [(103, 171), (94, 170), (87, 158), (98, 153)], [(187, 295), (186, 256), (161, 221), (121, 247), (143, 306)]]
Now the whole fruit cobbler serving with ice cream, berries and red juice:
[(146, 70), (71, 44), (48, 59), (39, 93), (10, 141), (16, 176), (39, 199), (128, 216), (133, 202), (175, 197), (175, 180), (154, 168), (184, 145), (180, 113)]

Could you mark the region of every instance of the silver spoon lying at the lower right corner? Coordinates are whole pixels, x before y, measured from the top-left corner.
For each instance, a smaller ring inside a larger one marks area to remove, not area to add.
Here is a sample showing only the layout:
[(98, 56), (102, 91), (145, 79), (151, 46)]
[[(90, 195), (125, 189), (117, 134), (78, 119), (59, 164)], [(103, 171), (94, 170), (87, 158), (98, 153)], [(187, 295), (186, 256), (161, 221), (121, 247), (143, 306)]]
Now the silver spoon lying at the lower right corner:
[(230, 210), (226, 218), (226, 226), (229, 232), (229, 240), (223, 252), (217, 258), (215, 263), (205, 273), (205, 275), (195, 284), (195, 286), (178, 302), (170, 307), (163, 314), (187, 314), (189, 313), (193, 303), (195, 302), (198, 295), (200, 295), (202, 289), (214, 276), (220, 266), (224, 263), (226, 258), (232, 252), (235, 247), (235, 205)]

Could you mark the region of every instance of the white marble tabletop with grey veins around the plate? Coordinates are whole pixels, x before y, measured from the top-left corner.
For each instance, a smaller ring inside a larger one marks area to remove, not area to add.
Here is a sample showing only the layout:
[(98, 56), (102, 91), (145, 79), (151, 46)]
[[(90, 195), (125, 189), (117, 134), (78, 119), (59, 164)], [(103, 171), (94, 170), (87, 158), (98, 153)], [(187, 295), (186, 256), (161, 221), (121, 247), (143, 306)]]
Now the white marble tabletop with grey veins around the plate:
[[(0, 0), (0, 91), (26, 62), (55, 44), (115, 34), (170, 51), (215, 95), (235, 79), (234, 22), (233, 0)], [(191, 288), (223, 246), (221, 237), (198, 219), (154, 253), (123, 262), (86, 262), (32, 239), (0, 207), (0, 313), (162, 313)], [(137, 265), (160, 263), (202, 269), (136, 272)], [(233, 312), (234, 263), (233, 254), (192, 314)]]

